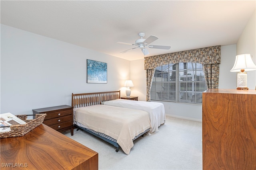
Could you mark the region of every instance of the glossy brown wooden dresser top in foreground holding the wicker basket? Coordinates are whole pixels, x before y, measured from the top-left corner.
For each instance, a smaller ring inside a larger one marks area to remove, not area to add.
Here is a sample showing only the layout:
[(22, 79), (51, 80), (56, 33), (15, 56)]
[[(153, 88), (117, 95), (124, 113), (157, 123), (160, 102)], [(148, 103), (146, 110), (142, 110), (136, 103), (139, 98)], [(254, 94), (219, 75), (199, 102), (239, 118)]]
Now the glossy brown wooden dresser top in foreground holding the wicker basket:
[(1, 170), (97, 170), (98, 153), (42, 124), (1, 138)]

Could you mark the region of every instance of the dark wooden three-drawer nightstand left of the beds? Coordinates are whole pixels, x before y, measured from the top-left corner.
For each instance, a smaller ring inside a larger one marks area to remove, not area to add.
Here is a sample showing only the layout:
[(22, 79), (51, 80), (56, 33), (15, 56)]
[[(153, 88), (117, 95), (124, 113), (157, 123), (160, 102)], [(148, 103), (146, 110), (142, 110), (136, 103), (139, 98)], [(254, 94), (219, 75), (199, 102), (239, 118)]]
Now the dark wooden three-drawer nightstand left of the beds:
[(73, 135), (73, 108), (72, 106), (62, 105), (54, 107), (46, 107), (41, 109), (33, 109), (33, 114), (46, 113), (43, 123), (59, 132), (70, 129)]

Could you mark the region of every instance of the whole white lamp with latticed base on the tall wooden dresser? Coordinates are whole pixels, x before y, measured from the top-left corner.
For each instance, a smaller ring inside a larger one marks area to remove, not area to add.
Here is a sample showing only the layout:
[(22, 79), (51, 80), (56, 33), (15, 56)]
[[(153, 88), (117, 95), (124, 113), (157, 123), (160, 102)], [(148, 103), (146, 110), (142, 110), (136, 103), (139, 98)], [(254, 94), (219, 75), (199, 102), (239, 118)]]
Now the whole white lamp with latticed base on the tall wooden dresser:
[(247, 87), (247, 72), (256, 70), (256, 65), (252, 61), (250, 54), (236, 55), (236, 61), (231, 72), (239, 72), (237, 74), (237, 88), (240, 90), (248, 90)]

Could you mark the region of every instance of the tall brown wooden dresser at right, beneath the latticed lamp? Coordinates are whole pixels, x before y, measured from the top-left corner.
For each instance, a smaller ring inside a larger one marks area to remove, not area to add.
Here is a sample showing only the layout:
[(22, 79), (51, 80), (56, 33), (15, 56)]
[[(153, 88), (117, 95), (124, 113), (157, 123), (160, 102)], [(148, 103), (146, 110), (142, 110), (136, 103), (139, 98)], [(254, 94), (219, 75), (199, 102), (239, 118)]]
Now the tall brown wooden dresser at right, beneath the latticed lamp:
[(204, 170), (256, 169), (256, 90), (203, 92)]

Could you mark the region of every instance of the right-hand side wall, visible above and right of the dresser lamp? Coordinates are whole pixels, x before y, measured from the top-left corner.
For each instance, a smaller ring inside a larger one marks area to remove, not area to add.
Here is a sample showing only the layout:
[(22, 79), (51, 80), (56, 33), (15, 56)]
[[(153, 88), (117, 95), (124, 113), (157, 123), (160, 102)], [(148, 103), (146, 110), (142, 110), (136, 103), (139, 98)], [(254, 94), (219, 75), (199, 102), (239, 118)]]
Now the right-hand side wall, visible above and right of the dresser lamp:
[[(252, 55), (252, 60), (256, 64), (256, 12), (252, 14), (248, 21), (242, 35), (240, 36), (237, 46), (236, 53), (245, 54), (249, 53)], [(249, 89), (255, 89), (256, 87), (256, 70), (247, 72), (247, 87)]]

